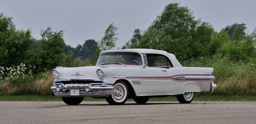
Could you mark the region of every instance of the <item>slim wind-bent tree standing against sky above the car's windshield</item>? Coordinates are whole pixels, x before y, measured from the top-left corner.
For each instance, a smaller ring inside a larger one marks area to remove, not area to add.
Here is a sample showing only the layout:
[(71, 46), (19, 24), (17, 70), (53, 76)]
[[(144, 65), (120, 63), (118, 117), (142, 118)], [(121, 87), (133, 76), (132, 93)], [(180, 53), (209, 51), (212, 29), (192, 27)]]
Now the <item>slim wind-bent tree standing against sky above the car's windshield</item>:
[(108, 28), (105, 31), (105, 36), (102, 37), (101, 41), (99, 42), (99, 48), (101, 51), (104, 50), (111, 50), (113, 47), (115, 47), (116, 41), (118, 40), (117, 33), (115, 32), (117, 29), (116, 26), (111, 23)]

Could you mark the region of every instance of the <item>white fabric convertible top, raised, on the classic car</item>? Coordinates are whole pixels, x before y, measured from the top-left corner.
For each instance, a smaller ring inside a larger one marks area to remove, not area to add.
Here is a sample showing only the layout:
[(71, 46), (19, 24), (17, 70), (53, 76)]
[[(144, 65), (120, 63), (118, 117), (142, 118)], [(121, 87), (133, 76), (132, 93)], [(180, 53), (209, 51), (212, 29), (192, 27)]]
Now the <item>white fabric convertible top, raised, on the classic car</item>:
[(102, 53), (108, 53), (108, 52), (137, 52), (140, 54), (161, 54), (170, 59), (170, 61), (173, 64), (173, 67), (182, 67), (181, 63), (176, 59), (175, 55), (171, 53), (167, 53), (163, 50), (155, 50), (155, 49), (122, 49), (122, 50), (105, 50), (100, 52)]

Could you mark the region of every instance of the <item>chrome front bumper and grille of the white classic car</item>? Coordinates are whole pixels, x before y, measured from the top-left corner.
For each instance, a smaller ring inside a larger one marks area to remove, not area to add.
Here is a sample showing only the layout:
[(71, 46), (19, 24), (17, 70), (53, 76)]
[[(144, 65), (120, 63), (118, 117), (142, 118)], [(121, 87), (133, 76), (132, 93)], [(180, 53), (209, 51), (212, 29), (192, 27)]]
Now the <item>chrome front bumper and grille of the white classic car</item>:
[[(112, 83), (105, 83), (101, 79), (56, 79), (51, 89), (57, 97), (106, 97), (110, 96), (113, 90)], [(79, 90), (76, 95), (71, 95), (70, 91)]]

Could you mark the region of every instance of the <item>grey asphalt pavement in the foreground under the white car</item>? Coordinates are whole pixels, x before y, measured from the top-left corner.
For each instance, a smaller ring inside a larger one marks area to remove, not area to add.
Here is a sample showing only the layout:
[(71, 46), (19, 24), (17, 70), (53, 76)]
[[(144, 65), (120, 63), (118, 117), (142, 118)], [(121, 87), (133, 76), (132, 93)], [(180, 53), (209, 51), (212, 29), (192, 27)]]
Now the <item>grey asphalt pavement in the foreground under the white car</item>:
[(255, 124), (256, 102), (0, 102), (0, 123), (51, 124)]

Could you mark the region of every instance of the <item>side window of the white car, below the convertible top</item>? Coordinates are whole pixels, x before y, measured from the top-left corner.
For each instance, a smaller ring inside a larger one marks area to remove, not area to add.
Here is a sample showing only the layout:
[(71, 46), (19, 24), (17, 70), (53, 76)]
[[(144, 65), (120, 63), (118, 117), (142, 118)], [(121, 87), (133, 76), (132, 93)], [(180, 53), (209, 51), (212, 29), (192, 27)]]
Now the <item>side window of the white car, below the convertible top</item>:
[(172, 67), (169, 59), (160, 54), (147, 54), (147, 62), (149, 67)]

